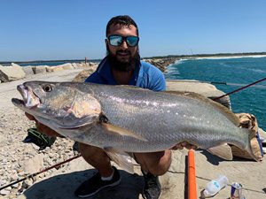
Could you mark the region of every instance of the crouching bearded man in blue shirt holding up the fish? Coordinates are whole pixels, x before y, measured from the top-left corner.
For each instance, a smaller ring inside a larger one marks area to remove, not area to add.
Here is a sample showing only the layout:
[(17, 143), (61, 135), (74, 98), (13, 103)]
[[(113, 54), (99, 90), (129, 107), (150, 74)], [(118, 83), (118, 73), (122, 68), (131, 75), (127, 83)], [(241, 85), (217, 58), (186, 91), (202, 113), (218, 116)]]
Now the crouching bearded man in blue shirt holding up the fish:
[[(165, 90), (163, 73), (153, 65), (140, 61), (138, 41), (137, 24), (133, 19), (129, 16), (117, 16), (110, 19), (106, 26), (107, 56), (98, 65), (97, 71), (92, 73), (85, 82), (134, 85), (154, 91)], [(27, 117), (34, 119), (29, 115)], [(44, 134), (58, 135), (47, 126), (39, 123), (37, 126)], [(190, 145), (185, 142), (180, 143), (175, 149), (183, 149), (183, 147), (190, 148)], [(84, 181), (74, 192), (75, 195), (88, 197), (95, 195), (103, 188), (113, 187), (120, 183), (120, 173), (111, 165), (110, 158), (103, 149), (79, 143), (79, 151), (82, 157), (98, 170), (98, 173)], [(153, 153), (134, 153), (133, 157), (141, 165), (144, 175), (144, 198), (159, 198), (161, 188), (158, 176), (168, 171), (171, 164), (170, 149)]]

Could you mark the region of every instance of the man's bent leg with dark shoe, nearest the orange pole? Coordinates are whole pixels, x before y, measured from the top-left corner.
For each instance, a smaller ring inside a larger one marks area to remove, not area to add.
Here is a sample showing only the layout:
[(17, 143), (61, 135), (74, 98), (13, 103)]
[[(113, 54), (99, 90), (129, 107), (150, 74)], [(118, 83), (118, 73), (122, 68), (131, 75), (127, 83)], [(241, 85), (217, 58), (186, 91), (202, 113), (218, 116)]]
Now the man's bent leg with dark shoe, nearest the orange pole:
[(158, 199), (160, 197), (160, 181), (158, 176), (168, 171), (171, 165), (171, 150), (153, 153), (134, 153), (137, 163), (145, 179), (143, 197), (145, 199)]

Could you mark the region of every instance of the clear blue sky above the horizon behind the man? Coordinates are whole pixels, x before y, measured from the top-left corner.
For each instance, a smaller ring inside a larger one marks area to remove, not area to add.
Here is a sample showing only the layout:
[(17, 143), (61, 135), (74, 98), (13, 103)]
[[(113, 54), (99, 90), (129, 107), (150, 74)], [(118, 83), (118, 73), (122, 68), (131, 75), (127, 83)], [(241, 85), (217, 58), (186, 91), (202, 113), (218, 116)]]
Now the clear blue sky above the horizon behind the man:
[(137, 22), (141, 57), (266, 51), (264, 0), (3, 0), (0, 61), (103, 58), (106, 23)]

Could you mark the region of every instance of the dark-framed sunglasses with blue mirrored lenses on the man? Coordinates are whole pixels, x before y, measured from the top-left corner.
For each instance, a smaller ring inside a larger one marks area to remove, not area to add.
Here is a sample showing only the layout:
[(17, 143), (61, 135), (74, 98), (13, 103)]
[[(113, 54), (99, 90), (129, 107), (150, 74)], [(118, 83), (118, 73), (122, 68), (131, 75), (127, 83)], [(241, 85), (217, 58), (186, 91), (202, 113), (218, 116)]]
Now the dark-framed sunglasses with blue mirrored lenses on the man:
[(108, 36), (108, 41), (111, 46), (121, 46), (123, 41), (126, 41), (128, 46), (135, 47), (139, 41), (138, 36), (121, 36), (121, 35), (110, 35)]

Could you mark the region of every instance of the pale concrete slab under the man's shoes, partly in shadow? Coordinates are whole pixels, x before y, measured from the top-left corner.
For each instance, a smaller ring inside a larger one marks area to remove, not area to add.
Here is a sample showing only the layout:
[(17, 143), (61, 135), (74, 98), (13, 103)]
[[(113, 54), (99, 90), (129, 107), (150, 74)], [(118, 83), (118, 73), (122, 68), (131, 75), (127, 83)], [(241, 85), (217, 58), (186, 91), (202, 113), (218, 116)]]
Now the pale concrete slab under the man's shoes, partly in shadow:
[[(186, 198), (185, 159), (187, 150), (173, 152), (173, 162), (168, 172), (160, 176), (162, 195), (160, 199)], [(227, 176), (229, 185), (223, 188), (213, 198), (225, 199), (230, 197), (231, 183), (239, 182), (243, 185), (243, 194), (247, 198), (266, 198), (266, 163), (234, 159), (223, 161), (203, 150), (195, 151), (196, 180), (198, 198), (208, 181), (217, 178), (219, 174)], [(90, 198), (142, 198), (143, 178), (139, 166), (135, 165), (135, 174), (120, 170), (121, 184), (115, 188), (107, 188)], [(65, 169), (54, 172), (54, 175), (35, 183), (31, 188), (18, 197), (18, 199), (76, 199), (74, 190), (83, 180), (87, 180), (95, 173), (82, 157), (66, 165)]]

